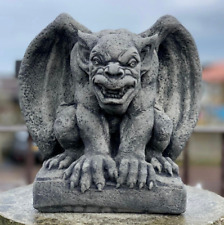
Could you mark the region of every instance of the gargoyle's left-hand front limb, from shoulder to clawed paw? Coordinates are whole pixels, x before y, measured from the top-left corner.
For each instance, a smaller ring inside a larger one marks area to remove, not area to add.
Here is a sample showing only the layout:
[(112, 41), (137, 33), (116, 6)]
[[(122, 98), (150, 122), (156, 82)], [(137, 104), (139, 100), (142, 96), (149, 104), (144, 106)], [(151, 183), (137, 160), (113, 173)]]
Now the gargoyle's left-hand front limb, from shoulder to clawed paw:
[(84, 155), (65, 171), (70, 187), (81, 187), (81, 192), (88, 190), (94, 183), (98, 190), (105, 186), (104, 172), (111, 179), (116, 179), (117, 169), (109, 155), (109, 127), (104, 118), (85, 106), (78, 104), (76, 119), (80, 136), (84, 143)]

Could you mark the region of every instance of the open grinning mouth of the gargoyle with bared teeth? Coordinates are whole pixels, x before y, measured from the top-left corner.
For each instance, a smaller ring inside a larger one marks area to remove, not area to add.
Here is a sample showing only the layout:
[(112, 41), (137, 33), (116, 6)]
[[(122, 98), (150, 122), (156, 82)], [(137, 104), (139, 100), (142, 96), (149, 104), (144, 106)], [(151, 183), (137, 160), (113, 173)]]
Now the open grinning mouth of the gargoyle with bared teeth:
[(134, 85), (127, 85), (122, 88), (109, 89), (102, 84), (97, 84), (97, 88), (101, 91), (104, 98), (121, 99), (128, 92), (129, 89), (134, 88)]

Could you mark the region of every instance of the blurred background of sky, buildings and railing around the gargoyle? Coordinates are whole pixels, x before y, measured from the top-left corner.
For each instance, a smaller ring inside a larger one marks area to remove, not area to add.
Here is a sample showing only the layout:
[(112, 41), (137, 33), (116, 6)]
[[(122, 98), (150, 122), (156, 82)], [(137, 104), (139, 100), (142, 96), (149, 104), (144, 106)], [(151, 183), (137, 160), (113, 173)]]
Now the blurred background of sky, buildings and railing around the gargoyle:
[(198, 125), (177, 163), (186, 184), (224, 195), (223, 0), (0, 0), (0, 192), (31, 183), (41, 166), (20, 112), (17, 75), (29, 43), (62, 12), (94, 32), (140, 33), (165, 14), (190, 31), (203, 68), (203, 94)]

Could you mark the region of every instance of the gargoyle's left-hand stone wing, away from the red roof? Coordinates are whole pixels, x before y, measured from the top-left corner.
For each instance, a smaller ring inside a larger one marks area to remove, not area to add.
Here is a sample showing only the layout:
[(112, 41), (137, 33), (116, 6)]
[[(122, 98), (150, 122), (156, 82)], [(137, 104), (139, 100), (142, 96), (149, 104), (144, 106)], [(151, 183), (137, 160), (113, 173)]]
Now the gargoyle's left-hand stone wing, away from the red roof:
[(74, 102), (70, 53), (78, 30), (90, 33), (69, 15), (59, 15), (31, 42), (21, 64), (20, 106), (45, 159), (60, 150), (53, 130), (59, 106)]

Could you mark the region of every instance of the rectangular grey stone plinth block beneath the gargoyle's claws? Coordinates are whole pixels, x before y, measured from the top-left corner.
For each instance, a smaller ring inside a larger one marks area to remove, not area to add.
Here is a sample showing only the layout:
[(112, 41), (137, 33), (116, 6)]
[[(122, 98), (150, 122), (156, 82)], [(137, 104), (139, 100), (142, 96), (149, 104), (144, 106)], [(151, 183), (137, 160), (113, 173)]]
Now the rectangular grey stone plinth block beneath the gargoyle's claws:
[(42, 168), (33, 186), (33, 205), (41, 212), (128, 212), (180, 214), (186, 209), (186, 190), (179, 177), (157, 176), (156, 187), (116, 188), (107, 183), (103, 191), (95, 187), (85, 193), (70, 189), (62, 170)]

